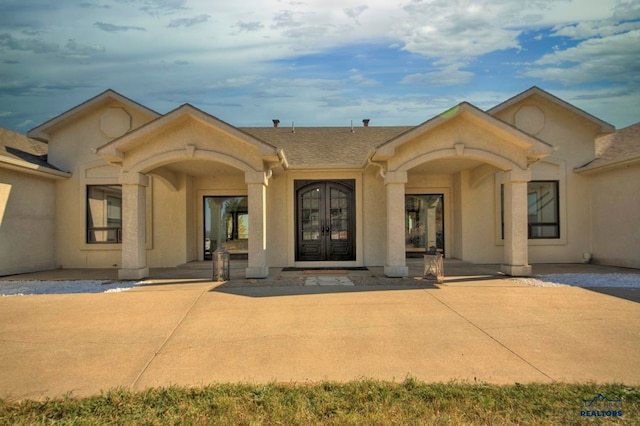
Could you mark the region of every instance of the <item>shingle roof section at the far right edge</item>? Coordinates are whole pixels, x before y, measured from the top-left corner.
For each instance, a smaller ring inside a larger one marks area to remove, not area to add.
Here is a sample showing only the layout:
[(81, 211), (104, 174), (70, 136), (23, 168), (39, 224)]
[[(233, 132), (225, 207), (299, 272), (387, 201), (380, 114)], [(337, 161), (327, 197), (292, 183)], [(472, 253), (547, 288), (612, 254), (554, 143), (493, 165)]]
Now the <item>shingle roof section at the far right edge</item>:
[(596, 139), (596, 159), (579, 170), (593, 170), (640, 160), (640, 123)]

